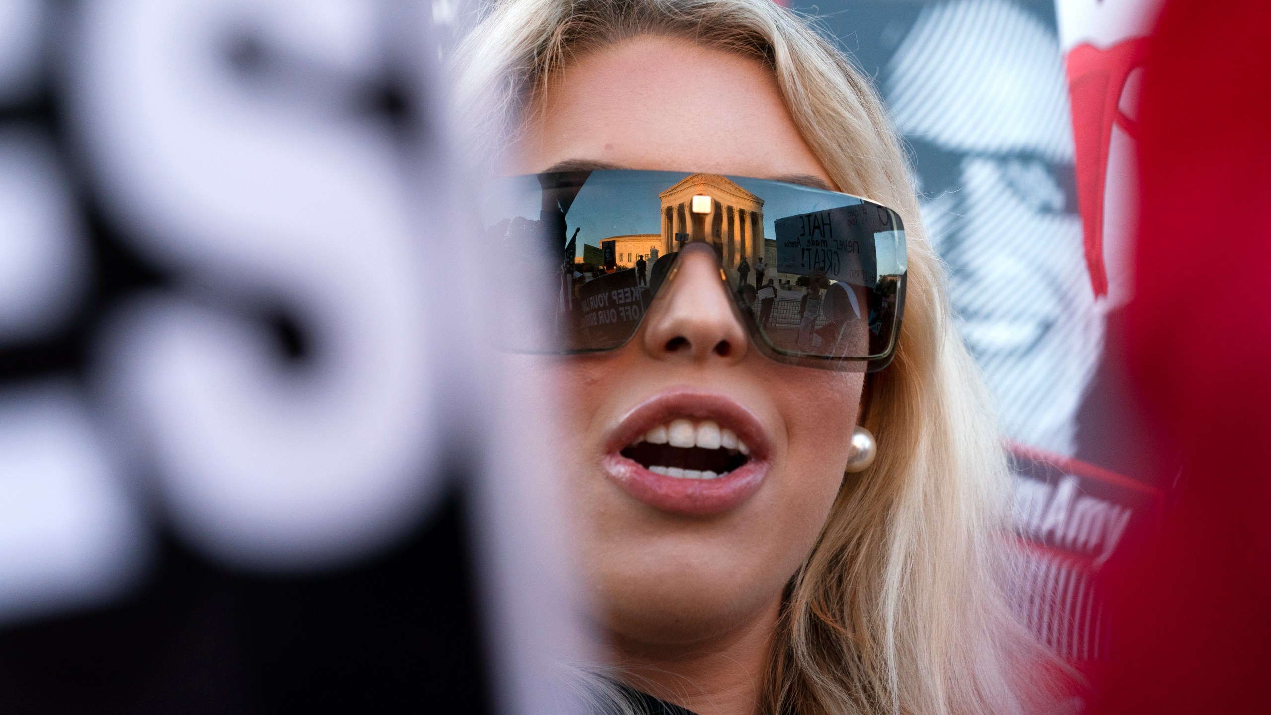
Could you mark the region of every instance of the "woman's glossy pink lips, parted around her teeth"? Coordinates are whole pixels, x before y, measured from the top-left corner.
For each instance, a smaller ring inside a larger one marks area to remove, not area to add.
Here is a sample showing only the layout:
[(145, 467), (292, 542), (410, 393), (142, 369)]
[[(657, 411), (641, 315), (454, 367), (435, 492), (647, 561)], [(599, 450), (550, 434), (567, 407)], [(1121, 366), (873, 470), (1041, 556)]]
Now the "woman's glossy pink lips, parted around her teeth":
[[(713, 480), (669, 477), (619, 454), (649, 429), (676, 417), (714, 420), (750, 447), (750, 461)], [(605, 444), (605, 473), (633, 497), (663, 511), (705, 517), (740, 506), (764, 481), (769, 444), (755, 416), (721, 394), (675, 391), (642, 403), (623, 419)]]

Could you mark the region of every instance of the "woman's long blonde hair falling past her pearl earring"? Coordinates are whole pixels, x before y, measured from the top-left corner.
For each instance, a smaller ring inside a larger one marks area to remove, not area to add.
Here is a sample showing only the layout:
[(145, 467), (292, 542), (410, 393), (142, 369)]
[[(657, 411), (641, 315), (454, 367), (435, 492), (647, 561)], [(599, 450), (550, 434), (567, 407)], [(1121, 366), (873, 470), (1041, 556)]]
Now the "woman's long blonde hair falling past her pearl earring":
[(895, 361), (872, 375), (878, 459), (844, 480), (791, 579), (760, 709), (1026, 712), (1057, 696), (1057, 664), (1003, 594), (1007, 467), (977, 373), (953, 332), (895, 130), (873, 87), (771, 0), (502, 0), (460, 45), (469, 146), (496, 156), (571, 60), (639, 34), (754, 57), (845, 192), (906, 223), (909, 282)]

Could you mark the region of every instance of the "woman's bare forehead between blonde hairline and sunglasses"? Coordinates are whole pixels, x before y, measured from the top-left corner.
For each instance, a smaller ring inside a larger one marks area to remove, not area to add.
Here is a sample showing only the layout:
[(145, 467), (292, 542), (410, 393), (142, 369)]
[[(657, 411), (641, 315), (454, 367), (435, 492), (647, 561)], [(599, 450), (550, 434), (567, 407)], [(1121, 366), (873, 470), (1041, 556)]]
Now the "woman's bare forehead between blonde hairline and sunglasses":
[(642, 36), (567, 66), (538, 99), (517, 173), (562, 162), (830, 183), (752, 59)]

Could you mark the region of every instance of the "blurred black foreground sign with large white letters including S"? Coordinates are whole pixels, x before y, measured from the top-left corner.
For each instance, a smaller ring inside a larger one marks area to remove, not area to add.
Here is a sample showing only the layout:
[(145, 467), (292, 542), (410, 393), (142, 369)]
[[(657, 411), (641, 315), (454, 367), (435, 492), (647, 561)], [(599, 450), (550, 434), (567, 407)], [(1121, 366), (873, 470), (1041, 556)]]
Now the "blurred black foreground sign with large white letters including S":
[(432, 10), (0, 4), (0, 710), (488, 707)]

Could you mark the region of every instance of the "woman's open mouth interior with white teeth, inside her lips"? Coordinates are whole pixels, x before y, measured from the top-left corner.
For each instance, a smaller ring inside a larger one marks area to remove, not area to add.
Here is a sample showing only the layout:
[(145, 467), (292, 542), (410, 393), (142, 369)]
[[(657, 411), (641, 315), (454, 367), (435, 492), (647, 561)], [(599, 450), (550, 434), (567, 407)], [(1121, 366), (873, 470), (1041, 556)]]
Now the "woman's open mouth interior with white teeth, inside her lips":
[(684, 480), (716, 480), (750, 461), (750, 448), (731, 429), (684, 417), (655, 426), (620, 454), (649, 472)]

